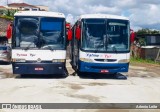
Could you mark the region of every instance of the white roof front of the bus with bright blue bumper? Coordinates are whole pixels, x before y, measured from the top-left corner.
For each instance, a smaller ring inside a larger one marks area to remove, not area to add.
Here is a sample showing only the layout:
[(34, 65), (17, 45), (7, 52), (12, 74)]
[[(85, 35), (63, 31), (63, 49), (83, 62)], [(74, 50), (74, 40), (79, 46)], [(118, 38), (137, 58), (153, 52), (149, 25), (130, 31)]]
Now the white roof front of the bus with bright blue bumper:
[(89, 19), (89, 18), (108, 18), (108, 19), (122, 19), (122, 20), (129, 20), (123, 16), (117, 15), (109, 15), (109, 14), (84, 14), (80, 16), (80, 19)]

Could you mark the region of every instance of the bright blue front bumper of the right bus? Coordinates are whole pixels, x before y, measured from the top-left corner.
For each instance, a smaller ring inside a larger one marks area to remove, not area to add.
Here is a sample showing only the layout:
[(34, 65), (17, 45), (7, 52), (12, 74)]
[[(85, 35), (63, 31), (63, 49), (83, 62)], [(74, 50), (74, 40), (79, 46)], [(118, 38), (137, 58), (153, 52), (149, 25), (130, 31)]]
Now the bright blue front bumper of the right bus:
[(128, 72), (129, 63), (89, 63), (79, 61), (80, 72), (117, 73)]

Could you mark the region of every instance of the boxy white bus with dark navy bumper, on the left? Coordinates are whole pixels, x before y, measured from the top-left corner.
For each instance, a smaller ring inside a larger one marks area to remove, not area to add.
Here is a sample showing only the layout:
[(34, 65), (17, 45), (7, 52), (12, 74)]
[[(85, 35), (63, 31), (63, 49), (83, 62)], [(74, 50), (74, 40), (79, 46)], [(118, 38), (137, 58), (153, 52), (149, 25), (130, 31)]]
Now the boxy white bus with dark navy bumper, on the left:
[(22, 11), (14, 15), (14, 74), (66, 75), (66, 22), (57, 12)]

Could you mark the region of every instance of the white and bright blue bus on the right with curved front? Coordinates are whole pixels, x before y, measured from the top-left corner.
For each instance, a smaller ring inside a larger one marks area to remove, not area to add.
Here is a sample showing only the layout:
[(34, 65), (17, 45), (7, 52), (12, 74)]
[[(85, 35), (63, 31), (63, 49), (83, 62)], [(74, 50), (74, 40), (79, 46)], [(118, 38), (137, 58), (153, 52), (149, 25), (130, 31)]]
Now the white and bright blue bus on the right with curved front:
[(71, 65), (79, 74), (128, 72), (130, 23), (126, 17), (81, 15), (72, 31)]

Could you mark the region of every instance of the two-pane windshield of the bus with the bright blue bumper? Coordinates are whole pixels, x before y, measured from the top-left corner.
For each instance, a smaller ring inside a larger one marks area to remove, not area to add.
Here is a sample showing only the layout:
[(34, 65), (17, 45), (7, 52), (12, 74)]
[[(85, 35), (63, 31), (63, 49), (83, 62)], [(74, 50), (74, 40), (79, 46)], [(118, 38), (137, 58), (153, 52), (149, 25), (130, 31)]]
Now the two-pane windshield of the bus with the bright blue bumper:
[(128, 52), (129, 22), (118, 19), (83, 21), (81, 48), (94, 52)]

